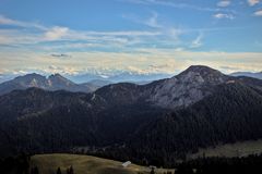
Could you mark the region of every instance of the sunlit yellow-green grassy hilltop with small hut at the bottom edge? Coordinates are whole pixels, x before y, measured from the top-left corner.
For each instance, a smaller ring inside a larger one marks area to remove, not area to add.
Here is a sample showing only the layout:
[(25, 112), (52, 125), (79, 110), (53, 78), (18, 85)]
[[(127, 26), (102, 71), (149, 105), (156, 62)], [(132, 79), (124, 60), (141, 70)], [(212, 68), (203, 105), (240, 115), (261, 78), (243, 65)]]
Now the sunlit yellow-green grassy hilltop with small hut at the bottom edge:
[[(60, 166), (62, 174), (71, 165), (75, 174), (148, 174), (150, 169), (131, 164), (123, 167), (122, 162), (107, 160), (91, 156), (79, 154), (36, 154), (32, 157), (32, 166), (38, 166), (40, 174), (53, 174)], [(157, 174), (163, 174), (168, 170), (156, 170)], [(170, 170), (174, 171), (174, 170)]]

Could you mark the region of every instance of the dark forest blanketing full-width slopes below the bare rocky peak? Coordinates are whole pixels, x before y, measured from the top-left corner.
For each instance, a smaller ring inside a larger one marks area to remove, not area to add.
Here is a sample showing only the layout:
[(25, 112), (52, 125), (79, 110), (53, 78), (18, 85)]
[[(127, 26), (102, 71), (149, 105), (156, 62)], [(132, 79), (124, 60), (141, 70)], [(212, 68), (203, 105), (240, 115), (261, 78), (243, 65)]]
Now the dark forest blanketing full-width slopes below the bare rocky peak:
[[(72, 152), (83, 147), (87, 154), (174, 167), (199, 148), (262, 138), (260, 92), (241, 84), (221, 85), (203, 100), (170, 111), (139, 102), (99, 103), (90, 110), (82, 94), (17, 91), (0, 97), (0, 154)], [(61, 101), (50, 110), (32, 111)], [(21, 117), (22, 111), (29, 114)]]

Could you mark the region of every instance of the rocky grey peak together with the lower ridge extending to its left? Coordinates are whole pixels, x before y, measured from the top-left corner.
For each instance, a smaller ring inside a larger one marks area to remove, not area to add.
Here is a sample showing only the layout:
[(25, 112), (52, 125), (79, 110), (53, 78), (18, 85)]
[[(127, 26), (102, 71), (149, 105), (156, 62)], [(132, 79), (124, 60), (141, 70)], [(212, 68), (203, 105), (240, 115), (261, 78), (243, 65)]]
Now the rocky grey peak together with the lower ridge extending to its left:
[(226, 83), (230, 77), (207, 66), (190, 66), (171, 78), (139, 86), (115, 84), (98, 89), (95, 94), (115, 103), (135, 103), (146, 101), (165, 109), (188, 107), (212, 94), (216, 85)]

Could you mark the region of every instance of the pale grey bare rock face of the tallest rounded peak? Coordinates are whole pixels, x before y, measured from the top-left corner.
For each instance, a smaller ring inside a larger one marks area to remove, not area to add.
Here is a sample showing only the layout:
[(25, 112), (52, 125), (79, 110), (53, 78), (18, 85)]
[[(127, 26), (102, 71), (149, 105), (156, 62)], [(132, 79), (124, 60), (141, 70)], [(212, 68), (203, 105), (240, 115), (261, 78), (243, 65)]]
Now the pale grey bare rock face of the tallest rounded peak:
[(227, 78), (207, 66), (190, 66), (153, 88), (148, 101), (170, 109), (188, 107), (210, 95), (215, 85), (225, 83)]

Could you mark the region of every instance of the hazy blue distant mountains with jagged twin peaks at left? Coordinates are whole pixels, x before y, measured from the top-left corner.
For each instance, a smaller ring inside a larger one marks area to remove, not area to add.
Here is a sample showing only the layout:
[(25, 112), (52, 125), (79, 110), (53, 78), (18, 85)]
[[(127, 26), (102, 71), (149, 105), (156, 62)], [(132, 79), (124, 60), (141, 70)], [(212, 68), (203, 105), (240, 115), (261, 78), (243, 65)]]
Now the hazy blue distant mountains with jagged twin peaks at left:
[[(140, 75), (135, 73), (121, 73), (109, 77), (103, 77), (100, 75), (94, 74), (68, 76), (69, 78), (74, 79), (74, 82), (72, 82), (60, 74), (53, 74), (46, 77), (40, 74), (32, 73), (14, 77), (13, 79), (0, 84), (0, 95), (8, 94), (15, 89), (27, 89), (31, 87), (36, 87), (50, 91), (67, 90), (72, 92), (92, 92), (103, 86), (119, 83), (121, 80), (127, 83), (134, 83), (138, 85), (144, 85), (151, 83), (152, 79), (158, 79), (164, 76), (167, 75)], [(84, 83), (76, 84), (75, 82)]]

